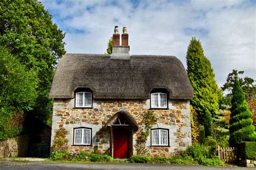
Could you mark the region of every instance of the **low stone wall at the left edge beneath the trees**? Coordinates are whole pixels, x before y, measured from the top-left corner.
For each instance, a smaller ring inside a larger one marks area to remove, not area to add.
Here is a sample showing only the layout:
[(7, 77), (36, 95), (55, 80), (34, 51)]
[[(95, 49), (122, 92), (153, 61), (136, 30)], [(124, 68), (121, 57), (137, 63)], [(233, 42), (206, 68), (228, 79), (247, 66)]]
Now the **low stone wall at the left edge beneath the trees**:
[(26, 157), (28, 146), (29, 136), (27, 134), (0, 141), (0, 158)]

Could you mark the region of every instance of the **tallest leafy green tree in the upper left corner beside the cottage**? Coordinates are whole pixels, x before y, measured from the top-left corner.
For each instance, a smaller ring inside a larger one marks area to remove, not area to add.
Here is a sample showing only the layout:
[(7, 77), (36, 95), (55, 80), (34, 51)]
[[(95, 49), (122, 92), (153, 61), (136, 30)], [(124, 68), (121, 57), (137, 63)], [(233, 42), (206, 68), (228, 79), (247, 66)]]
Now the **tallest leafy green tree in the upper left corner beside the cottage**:
[(40, 2), (0, 2), (0, 43), (38, 77), (37, 100), (30, 115), (44, 122), (51, 119), (48, 95), (56, 63), (65, 53), (64, 36)]

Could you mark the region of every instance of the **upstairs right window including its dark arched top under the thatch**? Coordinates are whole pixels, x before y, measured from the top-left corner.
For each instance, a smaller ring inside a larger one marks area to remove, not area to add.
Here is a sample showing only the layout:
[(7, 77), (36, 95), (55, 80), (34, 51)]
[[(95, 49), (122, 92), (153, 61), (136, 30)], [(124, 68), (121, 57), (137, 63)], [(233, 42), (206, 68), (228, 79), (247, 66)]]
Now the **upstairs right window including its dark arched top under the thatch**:
[(165, 89), (154, 89), (151, 91), (151, 108), (168, 108), (168, 91)]

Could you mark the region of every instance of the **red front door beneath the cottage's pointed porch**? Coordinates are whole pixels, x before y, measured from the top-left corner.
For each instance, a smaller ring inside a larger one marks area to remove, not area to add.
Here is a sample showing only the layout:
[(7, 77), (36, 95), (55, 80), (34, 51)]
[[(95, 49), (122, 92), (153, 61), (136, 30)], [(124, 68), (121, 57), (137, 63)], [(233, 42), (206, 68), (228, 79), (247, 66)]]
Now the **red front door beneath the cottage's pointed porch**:
[(113, 154), (114, 158), (129, 157), (130, 129), (113, 129)]

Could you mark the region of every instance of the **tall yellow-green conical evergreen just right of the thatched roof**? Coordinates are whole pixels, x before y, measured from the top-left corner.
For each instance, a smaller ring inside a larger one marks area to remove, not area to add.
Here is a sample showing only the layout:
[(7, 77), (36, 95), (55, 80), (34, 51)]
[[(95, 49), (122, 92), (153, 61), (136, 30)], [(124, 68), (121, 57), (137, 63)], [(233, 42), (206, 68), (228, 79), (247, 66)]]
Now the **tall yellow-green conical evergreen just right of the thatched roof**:
[(206, 110), (214, 114), (219, 109), (222, 92), (215, 81), (211, 62), (205, 57), (201, 42), (193, 37), (186, 54), (187, 74), (194, 90), (191, 105), (199, 115), (203, 124)]

